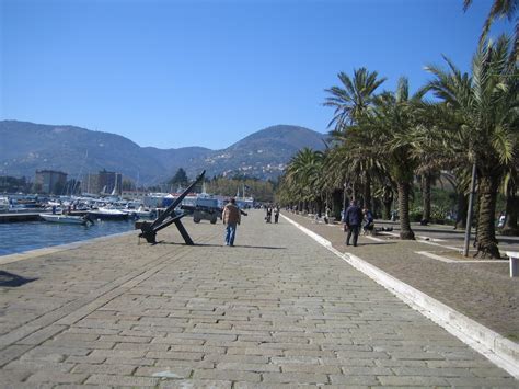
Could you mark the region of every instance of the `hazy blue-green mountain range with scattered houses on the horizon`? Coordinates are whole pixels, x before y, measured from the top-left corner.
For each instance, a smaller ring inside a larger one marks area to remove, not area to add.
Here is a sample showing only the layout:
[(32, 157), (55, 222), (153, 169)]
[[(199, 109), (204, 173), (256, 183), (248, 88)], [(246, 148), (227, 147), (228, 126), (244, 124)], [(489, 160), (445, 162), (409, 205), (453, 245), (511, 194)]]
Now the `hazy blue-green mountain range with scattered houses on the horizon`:
[(142, 184), (171, 178), (178, 168), (189, 176), (244, 174), (272, 179), (300, 148), (323, 149), (325, 135), (279, 125), (262, 129), (222, 150), (203, 147), (140, 147), (115, 134), (74, 126), (0, 121), (0, 175), (34, 178), (36, 170), (64, 171), (80, 178), (106, 169)]

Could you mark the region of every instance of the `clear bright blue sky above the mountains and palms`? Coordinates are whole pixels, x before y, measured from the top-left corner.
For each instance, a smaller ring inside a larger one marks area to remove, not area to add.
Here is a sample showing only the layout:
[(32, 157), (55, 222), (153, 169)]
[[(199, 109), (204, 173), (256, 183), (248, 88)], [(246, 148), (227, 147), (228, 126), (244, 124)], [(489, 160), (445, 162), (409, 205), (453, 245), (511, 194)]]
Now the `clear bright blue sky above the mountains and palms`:
[[(277, 124), (328, 130), (337, 73), (394, 89), (470, 69), (491, 0), (0, 0), (0, 119), (139, 146), (221, 149)], [(492, 31), (512, 31), (499, 22)]]

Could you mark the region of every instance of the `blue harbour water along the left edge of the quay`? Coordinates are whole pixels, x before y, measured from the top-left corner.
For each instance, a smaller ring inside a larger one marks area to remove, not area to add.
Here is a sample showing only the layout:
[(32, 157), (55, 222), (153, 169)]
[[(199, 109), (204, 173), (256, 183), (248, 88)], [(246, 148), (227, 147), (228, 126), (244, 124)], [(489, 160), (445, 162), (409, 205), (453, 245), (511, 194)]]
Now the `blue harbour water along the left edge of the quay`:
[(132, 229), (134, 220), (96, 220), (94, 225), (88, 226), (46, 221), (5, 222), (0, 224), (0, 255), (72, 243)]

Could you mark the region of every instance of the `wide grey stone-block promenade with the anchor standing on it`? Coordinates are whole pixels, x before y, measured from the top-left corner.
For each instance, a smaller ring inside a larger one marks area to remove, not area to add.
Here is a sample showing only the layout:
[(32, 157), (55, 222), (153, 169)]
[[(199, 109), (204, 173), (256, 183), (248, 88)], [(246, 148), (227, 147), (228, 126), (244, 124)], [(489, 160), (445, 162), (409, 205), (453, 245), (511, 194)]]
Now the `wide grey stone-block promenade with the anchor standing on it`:
[(186, 228), (1, 265), (0, 386), (518, 386), (284, 220)]

